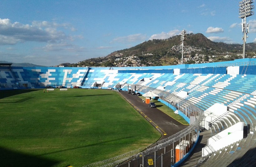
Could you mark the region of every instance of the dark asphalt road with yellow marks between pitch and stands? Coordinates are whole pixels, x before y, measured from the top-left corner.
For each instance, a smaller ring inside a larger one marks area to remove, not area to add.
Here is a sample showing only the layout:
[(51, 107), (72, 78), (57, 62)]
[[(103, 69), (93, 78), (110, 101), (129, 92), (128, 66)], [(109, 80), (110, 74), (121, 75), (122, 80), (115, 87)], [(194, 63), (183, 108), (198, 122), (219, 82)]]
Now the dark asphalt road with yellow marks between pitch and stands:
[(158, 102), (155, 102), (156, 108), (150, 108), (148, 104), (143, 103), (142, 99), (136, 95), (131, 95), (126, 91), (120, 91), (119, 93), (162, 134), (161, 139), (168, 138), (188, 126), (158, 110), (157, 107), (161, 105)]

